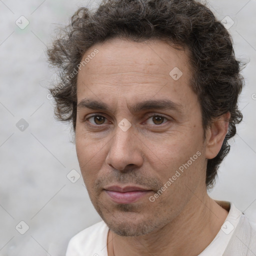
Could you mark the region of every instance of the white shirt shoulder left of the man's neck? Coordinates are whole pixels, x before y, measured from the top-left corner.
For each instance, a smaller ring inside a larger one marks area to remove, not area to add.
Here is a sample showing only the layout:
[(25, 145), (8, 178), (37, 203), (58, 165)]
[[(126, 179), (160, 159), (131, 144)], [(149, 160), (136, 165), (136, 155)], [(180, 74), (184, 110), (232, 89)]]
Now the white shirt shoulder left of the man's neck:
[(66, 256), (107, 255), (108, 229), (108, 226), (102, 220), (81, 230), (69, 240)]

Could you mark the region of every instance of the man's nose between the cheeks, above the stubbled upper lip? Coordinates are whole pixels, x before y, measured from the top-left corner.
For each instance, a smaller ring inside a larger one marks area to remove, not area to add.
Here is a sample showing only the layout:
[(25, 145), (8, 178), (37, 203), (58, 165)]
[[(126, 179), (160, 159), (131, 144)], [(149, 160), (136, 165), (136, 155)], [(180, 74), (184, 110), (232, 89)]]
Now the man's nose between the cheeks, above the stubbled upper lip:
[(134, 167), (142, 165), (143, 157), (140, 152), (142, 143), (135, 135), (132, 126), (126, 131), (117, 126), (109, 143), (105, 162), (112, 168), (124, 170), (127, 165)]

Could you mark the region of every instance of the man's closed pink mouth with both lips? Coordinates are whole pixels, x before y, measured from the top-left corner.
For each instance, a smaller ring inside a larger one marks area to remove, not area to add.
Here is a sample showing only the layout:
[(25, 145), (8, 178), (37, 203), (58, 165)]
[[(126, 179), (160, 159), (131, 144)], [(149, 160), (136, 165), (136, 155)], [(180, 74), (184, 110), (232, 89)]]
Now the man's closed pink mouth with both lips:
[(104, 188), (104, 191), (115, 203), (132, 203), (152, 192), (152, 190), (137, 186), (109, 186)]

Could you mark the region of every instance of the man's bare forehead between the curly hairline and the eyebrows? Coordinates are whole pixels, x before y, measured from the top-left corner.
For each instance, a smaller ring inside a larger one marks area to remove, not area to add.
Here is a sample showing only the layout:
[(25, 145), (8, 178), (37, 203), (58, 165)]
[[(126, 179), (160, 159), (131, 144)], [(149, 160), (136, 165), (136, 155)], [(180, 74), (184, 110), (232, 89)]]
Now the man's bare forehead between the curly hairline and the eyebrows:
[[(97, 53), (91, 54), (95, 49)], [(89, 61), (81, 66), (77, 77), (78, 103), (89, 96), (116, 105), (117, 91), (127, 101), (166, 95), (174, 97), (174, 101), (179, 101), (181, 96), (188, 101), (189, 93), (193, 93), (187, 52), (165, 41), (114, 38), (93, 45), (81, 61), (85, 58)]]

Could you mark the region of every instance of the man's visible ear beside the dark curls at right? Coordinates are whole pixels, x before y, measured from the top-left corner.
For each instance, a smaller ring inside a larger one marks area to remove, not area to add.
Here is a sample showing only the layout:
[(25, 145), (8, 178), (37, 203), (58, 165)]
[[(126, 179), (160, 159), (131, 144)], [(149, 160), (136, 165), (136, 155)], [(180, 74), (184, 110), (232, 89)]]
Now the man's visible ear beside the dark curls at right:
[(228, 130), (229, 119), (230, 112), (226, 112), (211, 121), (211, 125), (207, 128), (205, 135), (206, 159), (212, 159), (218, 154)]

